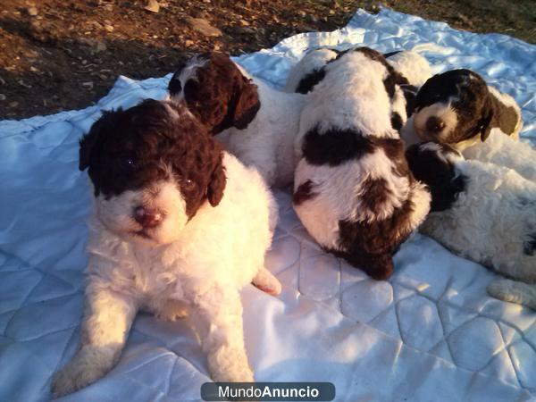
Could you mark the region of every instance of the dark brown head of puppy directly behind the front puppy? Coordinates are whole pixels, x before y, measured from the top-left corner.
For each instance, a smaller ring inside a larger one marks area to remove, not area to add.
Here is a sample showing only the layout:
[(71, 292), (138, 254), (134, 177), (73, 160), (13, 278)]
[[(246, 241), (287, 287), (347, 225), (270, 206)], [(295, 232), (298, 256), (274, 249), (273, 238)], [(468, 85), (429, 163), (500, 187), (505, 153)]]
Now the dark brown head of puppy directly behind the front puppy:
[(261, 106), (256, 86), (227, 54), (193, 57), (175, 71), (168, 90), (172, 100), (186, 101), (214, 135), (230, 127), (245, 129)]

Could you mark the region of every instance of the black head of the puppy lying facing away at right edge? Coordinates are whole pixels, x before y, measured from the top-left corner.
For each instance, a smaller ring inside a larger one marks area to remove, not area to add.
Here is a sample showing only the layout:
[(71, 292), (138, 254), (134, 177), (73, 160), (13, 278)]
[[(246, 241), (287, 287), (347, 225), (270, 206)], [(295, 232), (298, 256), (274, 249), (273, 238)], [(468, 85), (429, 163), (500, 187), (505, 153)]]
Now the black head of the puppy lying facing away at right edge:
[(431, 212), (444, 211), (464, 191), (465, 177), (456, 172), (456, 161), (463, 157), (446, 144), (427, 142), (406, 150), (406, 159), (415, 179), (430, 188)]

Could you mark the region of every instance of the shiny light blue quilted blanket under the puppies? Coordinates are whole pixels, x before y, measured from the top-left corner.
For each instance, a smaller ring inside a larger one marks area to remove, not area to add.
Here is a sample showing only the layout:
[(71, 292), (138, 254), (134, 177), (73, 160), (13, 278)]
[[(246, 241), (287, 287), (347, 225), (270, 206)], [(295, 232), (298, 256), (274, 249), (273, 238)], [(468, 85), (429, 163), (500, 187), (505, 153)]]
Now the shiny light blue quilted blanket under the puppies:
[[(467, 67), (515, 96), (522, 138), (536, 144), (536, 46), (382, 10), (344, 29), (283, 40), (237, 59), (281, 87), (311, 46), (415, 49), (433, 71)], [(170, 75), (117, 80), (82, 111), (0, 121), (0, 400), (50, 398), (53, 373), (80, 336), (90, 193), (78, 140), (102, 109), (161, 98)], [(494, 274), (415, 235), (389, 281), (372, 281), (322, 252), (276, 190), (281, 222), (267, 267), (281, 297), (243, 291), (257, 381), (331, 381), (338, 401), (536, 399), (536, 314), (486, 295)], [(197, 401), (209, 381), (188, 323), (139, 314), (119, 364), (65, 401)]]

